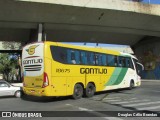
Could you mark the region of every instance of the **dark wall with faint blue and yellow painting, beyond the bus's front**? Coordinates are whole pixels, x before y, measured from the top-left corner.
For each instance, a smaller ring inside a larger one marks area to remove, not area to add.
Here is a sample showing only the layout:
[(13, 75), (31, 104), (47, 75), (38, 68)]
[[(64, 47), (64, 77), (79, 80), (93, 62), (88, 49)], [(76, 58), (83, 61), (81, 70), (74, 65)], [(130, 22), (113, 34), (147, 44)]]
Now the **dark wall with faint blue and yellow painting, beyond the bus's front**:
[(140, 42), (135, 54), (145, 67), (142, 78), (160, 80), (160, 38)]

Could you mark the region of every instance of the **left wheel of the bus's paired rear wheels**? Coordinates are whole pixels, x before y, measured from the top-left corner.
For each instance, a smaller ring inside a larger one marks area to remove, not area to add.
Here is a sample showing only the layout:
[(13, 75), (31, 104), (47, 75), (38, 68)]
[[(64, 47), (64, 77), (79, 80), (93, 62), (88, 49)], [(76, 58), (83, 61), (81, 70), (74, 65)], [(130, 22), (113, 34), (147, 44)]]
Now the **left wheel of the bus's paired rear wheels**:
[(73, 92), (73, 98), (74, 99), (80, 99), (83, 95), (83, 87), (81, 84), (76, 84), (74, 86), (74, 92)]

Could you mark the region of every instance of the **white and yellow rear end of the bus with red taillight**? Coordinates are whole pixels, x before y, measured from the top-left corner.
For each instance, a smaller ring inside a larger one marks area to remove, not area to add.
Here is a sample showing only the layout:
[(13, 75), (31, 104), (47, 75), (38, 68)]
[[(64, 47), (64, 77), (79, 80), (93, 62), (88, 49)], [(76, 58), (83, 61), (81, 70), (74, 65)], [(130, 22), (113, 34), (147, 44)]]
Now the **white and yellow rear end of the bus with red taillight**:
[(23, 91), (27, 95), (50, 96), (48, 74), (44, 72), (44, 43), (28, 44), (22, 51)]

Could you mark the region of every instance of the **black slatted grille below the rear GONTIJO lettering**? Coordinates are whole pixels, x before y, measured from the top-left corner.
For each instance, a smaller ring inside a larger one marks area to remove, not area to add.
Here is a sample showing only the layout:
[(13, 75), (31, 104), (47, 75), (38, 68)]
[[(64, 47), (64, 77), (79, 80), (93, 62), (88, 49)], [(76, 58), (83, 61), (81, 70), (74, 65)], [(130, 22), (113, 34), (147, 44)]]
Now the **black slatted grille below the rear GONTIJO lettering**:
[(24, 66), (25, 71), (40, 71), (42, 69), (41, 65), (26, 65)]

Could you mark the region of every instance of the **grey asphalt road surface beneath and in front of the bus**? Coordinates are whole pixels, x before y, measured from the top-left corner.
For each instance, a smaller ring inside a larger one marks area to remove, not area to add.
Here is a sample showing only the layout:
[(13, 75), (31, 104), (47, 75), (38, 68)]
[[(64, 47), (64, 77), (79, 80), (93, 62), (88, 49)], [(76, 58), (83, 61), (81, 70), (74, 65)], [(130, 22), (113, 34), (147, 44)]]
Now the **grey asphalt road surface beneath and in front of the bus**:
[[(92, 98), (82, 98), (73, 100), (70, 97), (41, 99), (37, 97), (3, 97), (0, 98), (0, 111), (52, 111), (47, 112), (49, 116), (42, 118), (16, 118), (21, 119), (107, 119), (107, 120), (126, 120), (127, 117), (118, 117), (124, 115), (133, 116), (133, 111), (141, 111), (130, 119), (141, 120), (143, 112), (156, 115), (160, 113), (160, 81), (143, 81), (142, 86), (133, 90), (113, 90), (96, 93)], [(61, 112), (53, 112), (61, 111)], [(66, 112), (67, 111), (67, 112)], [(116, 111), (116, 112), (113, 112)], [(127, 114), (128, 113), (128, 114)], [(46, 113), (42, 113), (46, 114)], [(65, 117), (60, 117), (65, 116)], [(74, 116), (74, 117), (72, 117)], [(88, 117), (87, 117), (88, 116)], [(3, 118), (10, 119), (10, 118)], [(143, 117), (148, 120), (148, 117)], [(151, 119), (151, 117), (149, 117)], [(159, 120), (158, 117), (152, 117)]]

